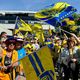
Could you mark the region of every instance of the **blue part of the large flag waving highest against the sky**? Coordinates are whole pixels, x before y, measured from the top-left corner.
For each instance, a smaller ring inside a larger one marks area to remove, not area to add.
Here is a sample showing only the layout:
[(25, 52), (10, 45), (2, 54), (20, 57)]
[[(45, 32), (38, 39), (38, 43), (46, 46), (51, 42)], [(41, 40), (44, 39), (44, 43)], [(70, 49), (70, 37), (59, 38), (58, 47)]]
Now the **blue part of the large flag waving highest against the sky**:
[[(67, 7), (64, 11), (60, 12), (58, 15), (52, 17), (52, 18), (45, 18), (45, 22), (47, 22), (48, 24), (51, 24), (53, 26), (56, 26), (58, 23), (60, 23), (63, 19), (65, 18), (68, 18), (70, 16), (72, 16), (72, 14), (74, 12), (76, 12), (77, 10), (72, 7), (72, 6), (69, 6)], [(70, 17), (70, 19), (72, 19)], [(42, 20), (42, 19), (41, 19)]]

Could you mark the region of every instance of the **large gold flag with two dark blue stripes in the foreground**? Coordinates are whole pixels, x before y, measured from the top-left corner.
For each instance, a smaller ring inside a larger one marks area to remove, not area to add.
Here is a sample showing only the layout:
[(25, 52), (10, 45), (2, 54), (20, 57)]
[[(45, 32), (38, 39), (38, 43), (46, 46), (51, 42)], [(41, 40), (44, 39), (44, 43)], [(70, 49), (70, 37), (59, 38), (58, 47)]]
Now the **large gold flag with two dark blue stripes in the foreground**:
[(26, 80), (56, 80), (50, 49), (45, 46), (21, 59)]

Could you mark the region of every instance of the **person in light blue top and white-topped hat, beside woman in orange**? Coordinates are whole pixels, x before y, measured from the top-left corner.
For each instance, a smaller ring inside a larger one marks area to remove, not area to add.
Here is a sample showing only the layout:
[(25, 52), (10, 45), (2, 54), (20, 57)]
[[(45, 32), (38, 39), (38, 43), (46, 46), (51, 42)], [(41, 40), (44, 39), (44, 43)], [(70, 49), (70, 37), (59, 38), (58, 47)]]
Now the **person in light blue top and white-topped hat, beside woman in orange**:
[[(18, 52), (18, 60), (26, 56), (26, 50), (23, 48), (24, 40), (22, 38), (17, 38), (16, 50)], [(23, 66), (19, 63), (19, 66), (16, 69), (17, 75), (24, 75)]]

